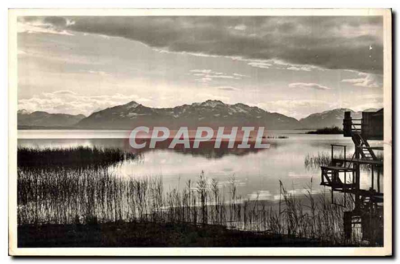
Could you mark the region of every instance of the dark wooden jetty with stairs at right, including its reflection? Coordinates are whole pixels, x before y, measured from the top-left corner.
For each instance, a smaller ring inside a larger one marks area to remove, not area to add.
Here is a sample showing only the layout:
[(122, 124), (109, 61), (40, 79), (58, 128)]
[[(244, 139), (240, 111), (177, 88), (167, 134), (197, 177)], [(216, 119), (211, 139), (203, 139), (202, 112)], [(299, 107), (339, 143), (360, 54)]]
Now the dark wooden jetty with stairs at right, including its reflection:
[[(383, 192), (380, 191), (380, 175), (383, 171), (383, 161), (374, 150), (383, 150), (380, 146), (370, 146), (368, 140), (383, 139), (383, 109), (376, 112), (362, 112), (362, 118), (351, 118), (351, 112), (344, 112), (343, 136), (351, 137), (354, 143), (354, 153), (351, 158), (346, 156), (346, 146), (331, 144), (331, 162), (321, 166), (321, 185), (333, 191), (352, 196), (353, 208), (343, 214), (343, 228), (346, 238), (350, 238), (353, 227), (361, 227), (362, 239), (371, 243), (383, 242)], [(344, 157), (335, 157), (334, 150), (339, 147), (344, 150)], [(360, 166), (369, 166), (371, 183), (368, 189), (360, 188)], [(374, 186), (376, 171), (376, 186)], [(376, 187), (376, 189), (375, 189)]]

